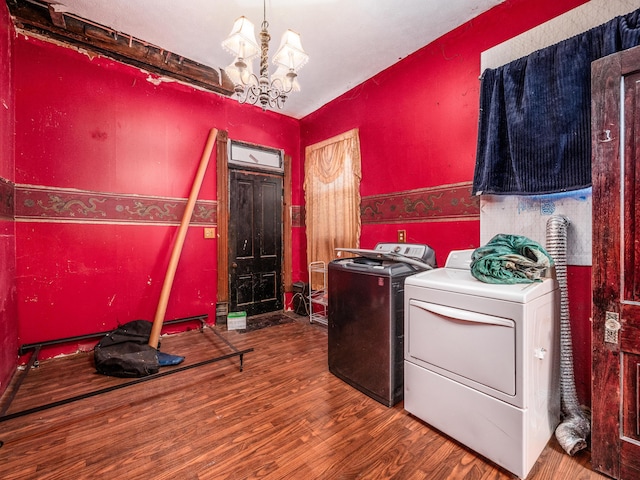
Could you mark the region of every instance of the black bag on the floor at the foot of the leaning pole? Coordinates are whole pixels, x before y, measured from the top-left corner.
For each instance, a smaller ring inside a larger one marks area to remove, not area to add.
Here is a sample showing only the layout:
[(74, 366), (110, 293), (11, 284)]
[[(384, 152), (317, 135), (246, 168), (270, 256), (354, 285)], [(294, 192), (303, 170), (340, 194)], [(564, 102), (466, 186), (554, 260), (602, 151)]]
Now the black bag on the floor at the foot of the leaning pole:
[(112, 377), (158, 373), (158, 351), (148, 344), (152, 325), (147, 320), (133, 320), (107, 333), (93, 349), (98, 373)]

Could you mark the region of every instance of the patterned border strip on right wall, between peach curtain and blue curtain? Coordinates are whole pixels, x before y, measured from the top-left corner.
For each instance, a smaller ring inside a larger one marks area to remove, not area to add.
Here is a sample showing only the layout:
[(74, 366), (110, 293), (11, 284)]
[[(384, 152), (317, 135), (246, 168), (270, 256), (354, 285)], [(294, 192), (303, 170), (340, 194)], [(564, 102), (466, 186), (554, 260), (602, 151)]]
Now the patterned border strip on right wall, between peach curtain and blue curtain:
[(471, 182), (370, 195), (360, 203), (362, 224), (480, 220), (480, 199)]

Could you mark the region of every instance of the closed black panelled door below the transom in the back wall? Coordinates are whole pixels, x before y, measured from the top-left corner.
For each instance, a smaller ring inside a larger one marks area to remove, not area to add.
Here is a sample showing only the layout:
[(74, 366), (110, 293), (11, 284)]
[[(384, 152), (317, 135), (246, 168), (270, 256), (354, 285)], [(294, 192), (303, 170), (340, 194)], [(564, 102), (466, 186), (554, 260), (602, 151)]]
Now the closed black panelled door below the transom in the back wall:
[(229, 309), (282, 309), (282, 177), (229, 172)]

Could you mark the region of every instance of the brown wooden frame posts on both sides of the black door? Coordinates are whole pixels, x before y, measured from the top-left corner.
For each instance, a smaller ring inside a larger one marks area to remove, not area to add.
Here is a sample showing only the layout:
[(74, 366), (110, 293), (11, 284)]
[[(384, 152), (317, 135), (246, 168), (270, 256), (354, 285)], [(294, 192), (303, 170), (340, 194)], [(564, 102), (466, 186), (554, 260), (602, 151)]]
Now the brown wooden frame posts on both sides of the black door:
[[(244, 142), (246, 143), (246, 142)], [(218, 131), (216, 150), (216, 206), (218, 227), (218, 275), (216, 290), (216, 322), (226, 323), (229, 313), (229, 134)], [(256, 145), (258, 148), (259, 145)], [(282, 179), (282, 283), (286, 308), (287, 293), (292, 292), (291, 240), (291, 156), (284, 154)]]

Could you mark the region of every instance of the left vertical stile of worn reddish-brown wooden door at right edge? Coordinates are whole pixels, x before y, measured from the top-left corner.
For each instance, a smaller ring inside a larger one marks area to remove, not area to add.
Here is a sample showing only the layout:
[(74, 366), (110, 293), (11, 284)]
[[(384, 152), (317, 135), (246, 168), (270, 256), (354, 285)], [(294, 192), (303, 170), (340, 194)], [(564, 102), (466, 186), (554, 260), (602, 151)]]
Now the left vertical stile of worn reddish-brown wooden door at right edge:
[[(597, 221), (616, 208), (612, 192), (619, 192), (620, 61), (608, 56), (591, 67), (591, 135), (593, 185), (593, 307), (592, 307), (592, 462), (593, 468), (614, 478), (620, 475), (620, 360), (617, 344), (604, 344), (606, 311), (613, 311), (619, 298), (615, 281), (609, 278), (618, 269), (618, 232), (609, 231), (608, 222)], [(618, 162), (619, 165), (619, 162)], [(613, 213), (612, 213), (613, 214)], [(607, 247), (598, 246), (606, 243)], [(598, 253), (602, 250), (601, 253)], [(611, 255), (609, 255), (609, 252)], [(604, 256), (603, 256), (604, 255)], [(611, 263), (611, 268), (607, 267)], [(600, 286), (609, 285), (608, 291)], [(603, 394), (606, 392), (606, 394)]]

